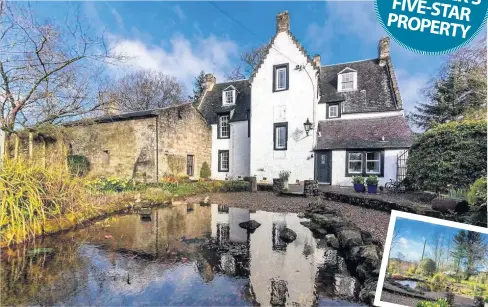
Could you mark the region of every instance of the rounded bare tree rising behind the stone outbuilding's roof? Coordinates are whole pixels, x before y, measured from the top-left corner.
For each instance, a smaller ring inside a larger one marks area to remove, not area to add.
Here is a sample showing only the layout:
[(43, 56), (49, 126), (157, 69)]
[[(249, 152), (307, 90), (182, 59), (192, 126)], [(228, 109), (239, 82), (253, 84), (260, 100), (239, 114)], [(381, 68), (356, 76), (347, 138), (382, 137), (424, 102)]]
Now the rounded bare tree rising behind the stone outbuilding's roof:
[(183, 86), (161, 72), (141, 70), (122, 77), (111, 97), (119, 111), (142, 111), (181, 104)]

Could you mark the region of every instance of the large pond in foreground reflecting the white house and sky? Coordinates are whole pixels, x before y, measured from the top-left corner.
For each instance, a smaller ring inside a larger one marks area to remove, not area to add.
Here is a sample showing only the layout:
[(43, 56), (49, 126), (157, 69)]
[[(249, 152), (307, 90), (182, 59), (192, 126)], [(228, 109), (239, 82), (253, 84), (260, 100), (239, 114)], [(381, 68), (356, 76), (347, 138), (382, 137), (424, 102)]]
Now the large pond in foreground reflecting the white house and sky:
[(3, 304), (358, 306), (356, 279), (303, 221), (216, 204), (113, 216), (3, 250)]

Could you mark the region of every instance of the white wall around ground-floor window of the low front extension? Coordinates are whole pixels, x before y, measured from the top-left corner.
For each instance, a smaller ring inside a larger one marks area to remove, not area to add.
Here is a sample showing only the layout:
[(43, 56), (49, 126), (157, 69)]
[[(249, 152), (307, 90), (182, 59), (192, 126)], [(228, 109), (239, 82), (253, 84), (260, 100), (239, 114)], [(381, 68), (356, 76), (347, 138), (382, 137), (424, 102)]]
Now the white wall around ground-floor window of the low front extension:
[[(396, 181), (397, 156), (406, 149), (387, 149), (385, 150), (384, 176), (378, 178), (378, 185), (385, 185), (393, 179)], [(332, 151), (332, 185), (352, 186), (352, 177), (346, 177), (346, 151)]]

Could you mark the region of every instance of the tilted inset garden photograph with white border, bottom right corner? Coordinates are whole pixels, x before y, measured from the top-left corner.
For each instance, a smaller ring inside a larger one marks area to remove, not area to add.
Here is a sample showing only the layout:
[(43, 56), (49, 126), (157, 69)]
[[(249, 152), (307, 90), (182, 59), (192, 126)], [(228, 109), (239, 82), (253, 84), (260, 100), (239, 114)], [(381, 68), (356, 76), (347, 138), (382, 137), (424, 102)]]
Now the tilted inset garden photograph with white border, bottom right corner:
[(377, 306), (486, 306), (488, 230), (392, 212)]

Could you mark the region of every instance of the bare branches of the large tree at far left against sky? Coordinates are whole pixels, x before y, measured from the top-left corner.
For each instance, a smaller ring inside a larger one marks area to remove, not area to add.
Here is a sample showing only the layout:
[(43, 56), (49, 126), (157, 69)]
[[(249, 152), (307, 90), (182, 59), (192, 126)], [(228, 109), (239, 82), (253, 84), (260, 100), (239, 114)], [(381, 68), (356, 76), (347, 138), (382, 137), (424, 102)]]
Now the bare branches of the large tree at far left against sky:
[(99, 110), (103, 70), (123, 57), (78, 11), (39, 22), (29, 3), (0, 2), (0, 128), (10, 135)]

